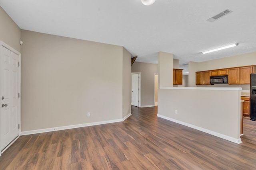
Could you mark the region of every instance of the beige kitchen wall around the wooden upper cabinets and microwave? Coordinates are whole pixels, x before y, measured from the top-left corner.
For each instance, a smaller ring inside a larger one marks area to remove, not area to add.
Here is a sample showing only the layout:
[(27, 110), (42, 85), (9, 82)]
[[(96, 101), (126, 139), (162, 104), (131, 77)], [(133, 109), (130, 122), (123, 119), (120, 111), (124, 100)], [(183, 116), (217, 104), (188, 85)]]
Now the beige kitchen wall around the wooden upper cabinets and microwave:
[[(189, 87), (196, 87), (196, 71), (214, 70), (219, 68), (230, 68), (236, 66), (256, 65), (256, 52), (225, 57), (200, 63), (189, 62)], [(198, 86), (204, 87), (204, 86)], [(213, 87), (213, 86), (211, 86)], [(243, 90), (250, 90), (247, 85), (214, 84), (214, 87), (242, 87)]]

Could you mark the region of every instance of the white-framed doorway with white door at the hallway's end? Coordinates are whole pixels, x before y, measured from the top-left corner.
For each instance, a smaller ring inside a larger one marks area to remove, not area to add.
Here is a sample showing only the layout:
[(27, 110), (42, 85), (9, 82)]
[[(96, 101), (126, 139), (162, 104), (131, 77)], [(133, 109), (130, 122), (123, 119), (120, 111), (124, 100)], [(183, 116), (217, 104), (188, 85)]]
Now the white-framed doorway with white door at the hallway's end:
[(133, 106), (140, 107), (140, 88), (141, 88), (141, 73), (132, 72), (132, 100)]

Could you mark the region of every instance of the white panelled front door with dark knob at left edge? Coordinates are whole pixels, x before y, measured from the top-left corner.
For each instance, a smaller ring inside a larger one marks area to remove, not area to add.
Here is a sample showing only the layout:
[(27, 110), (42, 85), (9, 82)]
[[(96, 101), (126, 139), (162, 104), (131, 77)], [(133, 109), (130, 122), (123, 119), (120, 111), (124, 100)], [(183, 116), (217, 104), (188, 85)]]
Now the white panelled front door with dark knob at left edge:
[(0, 44), (0, 150), (3, 152), (20, 134), (20, 54), (8, 45)]

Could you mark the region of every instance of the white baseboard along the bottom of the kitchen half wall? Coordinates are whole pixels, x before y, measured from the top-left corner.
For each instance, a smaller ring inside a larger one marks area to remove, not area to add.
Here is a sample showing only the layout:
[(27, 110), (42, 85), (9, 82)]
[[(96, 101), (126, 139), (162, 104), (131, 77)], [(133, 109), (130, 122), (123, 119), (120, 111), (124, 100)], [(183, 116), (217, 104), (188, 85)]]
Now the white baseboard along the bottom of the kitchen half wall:
[(214, 136), (216, 136), (216, 137), (220, 137), (220, 138), (222, 138), (222, 139), (226, 139), (226, 140), (231, 141), (231, 142), (234, 142), (234, 143), (238, 143), (238, 144), (242, 143), (241, 138), (236, 139), (236, 138), (233, 138), (233, 137), (229, 137), (229, 136), (227, 136), (227, 135), (223, 135), (223, 134), (221, 134), (221, 133), (217, 133), (217, 132), (214, 132), (214, 131), (210, 131), (210, 130), (208, 130), (208, 129), (204, 129), (204, 128), (202, 128), (202, 127), (198, 127), (198, 126), (195, 126), (195, 125), (191, 125), (191, 124), (189, 124), (189, 123), (185, 123), (185, 122), (183, 122), (183, 121), (179, 121), (179, 120), (176, 120), (176, 119), (172, 119), (172, 118), (170, 118), (170, 117), (166, 117), (166, 116), (163, 116), (163, 115), (159, 115), (159, 114), (158, 114), (157, 116), (158, 116), (158, 117), (161, 117), (161, 118), (163, 118), (163, 119), (169, 120), (169, 121), (173, 121), (173, 122), (175, 122), (175, 123), (179, 123), (179, 124), (184, 125), (184, 126), (187, 126), (187, 127), (191, 127), (191, 128), (196, 129), (196, 130), (198, 130), (198, 131), (202, 131), (202, 132), (208, 133), (208, 134), (210, 134), (210, 135), (214, 135)]

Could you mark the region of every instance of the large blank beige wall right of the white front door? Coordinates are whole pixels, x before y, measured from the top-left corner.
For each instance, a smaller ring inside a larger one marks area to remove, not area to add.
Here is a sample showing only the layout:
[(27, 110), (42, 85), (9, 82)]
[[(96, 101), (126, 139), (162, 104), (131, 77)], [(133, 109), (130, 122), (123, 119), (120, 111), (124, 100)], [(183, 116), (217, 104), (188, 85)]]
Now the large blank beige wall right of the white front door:
[(129, 112), (129, 95), (123, 100), (123, 94), (130, 85), (122, 88), (131, 84), (130, 75), (123, 79), (130, 54), (123, 47), (25, 30), (21, 35), (22, 131), (122, 119)]

